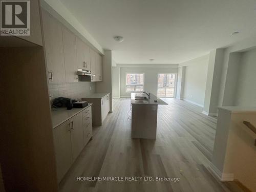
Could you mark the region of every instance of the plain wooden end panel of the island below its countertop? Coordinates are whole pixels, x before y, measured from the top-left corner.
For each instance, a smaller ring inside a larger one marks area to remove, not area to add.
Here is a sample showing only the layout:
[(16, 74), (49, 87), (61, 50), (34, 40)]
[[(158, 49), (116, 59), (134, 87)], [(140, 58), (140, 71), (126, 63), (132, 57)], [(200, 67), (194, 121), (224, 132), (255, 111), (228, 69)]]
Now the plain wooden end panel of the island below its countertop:
[(132, 138), (156, 139), (157, 104), (132, 104)]

